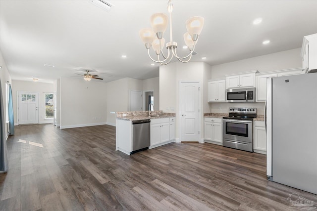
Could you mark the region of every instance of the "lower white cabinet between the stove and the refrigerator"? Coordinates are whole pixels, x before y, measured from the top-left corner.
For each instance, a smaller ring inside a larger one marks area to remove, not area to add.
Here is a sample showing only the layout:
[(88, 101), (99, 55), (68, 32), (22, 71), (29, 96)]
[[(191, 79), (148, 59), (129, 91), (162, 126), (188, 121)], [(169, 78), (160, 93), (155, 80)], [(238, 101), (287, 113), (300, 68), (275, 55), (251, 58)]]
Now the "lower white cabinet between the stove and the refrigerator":
[(253, 123), (253, 150), (257, 153), (266, 154), (266, 132), (264, 121), (254, 121)]

